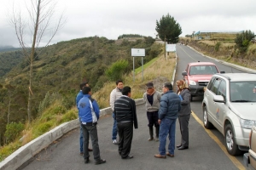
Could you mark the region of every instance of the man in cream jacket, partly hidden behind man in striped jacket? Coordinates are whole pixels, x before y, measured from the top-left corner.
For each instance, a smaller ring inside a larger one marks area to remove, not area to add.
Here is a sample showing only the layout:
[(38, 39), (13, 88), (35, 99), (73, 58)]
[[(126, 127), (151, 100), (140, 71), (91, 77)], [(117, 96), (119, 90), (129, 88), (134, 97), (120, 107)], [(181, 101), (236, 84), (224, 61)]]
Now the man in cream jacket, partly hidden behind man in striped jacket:
[[(114, 101), (119, 99), (119, 97), (122, 96), (122, 89), (124, 87), (123, 81), (118, 80), (115, 82), (116, 84), (116, 88), (114, 88), (110, 94), (110, 107), (113, 111), (114, 109)], [(114, 118), (114, 114), (112, 113), (113, 116), (113, 129), (112, 129), (112, 140), (113, 140), (113, 144), (118, 144), (117, 140), (116, 140), (116, 136), (117, 136), (117, 125), (116, 125), (116, 120)]]

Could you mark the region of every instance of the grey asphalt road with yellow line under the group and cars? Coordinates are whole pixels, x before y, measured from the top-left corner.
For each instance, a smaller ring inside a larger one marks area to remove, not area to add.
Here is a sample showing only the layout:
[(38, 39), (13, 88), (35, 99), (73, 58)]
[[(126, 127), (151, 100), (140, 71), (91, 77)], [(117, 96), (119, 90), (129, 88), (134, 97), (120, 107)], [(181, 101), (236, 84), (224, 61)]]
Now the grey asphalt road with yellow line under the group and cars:
[[(177, 75), (181, 79), (181, 72), (189, 62), (209, 61), (209, 59), (195, 53), (186, 46), (177, 45)], [(229, 66), (211, 60), (220, 71), (241, 72)], [(118, 146), (112, 144), (111, 132), (113, 118), (102, 117), (98, 122), (98, 136), (101, 156), (107, 160), (102, 165), (94, 165), (92, 153), (90, 163), (84, 164), (83, 156), (79, 155), (79, 128), (67, 133), (61, 139), (50, 144), (31, 161), (26, 162), (20, 169), (242, 169), (242, 156), (228, 156), (224, 152), (224, 137), (216, 129), (205, 130), (202, 126), (201, 97), (193, 98), (192, 111), (189, 121), (189, 150), (175, 150), (175, 157), (166, 159), (154, 158), (158, 153), (159, 142), (148, 142), (148, 126), (145, 106), (137, 106), (138, 129), (134, 130), (131, 146), (131, 160), (122, 160), (118, 154)], [(180, 143), (180, 133), (177, 122), (176, 144)], [(220, 141), (220, 144), (218, 143)], [(168, 141), (167, 141), (168, 144)]]

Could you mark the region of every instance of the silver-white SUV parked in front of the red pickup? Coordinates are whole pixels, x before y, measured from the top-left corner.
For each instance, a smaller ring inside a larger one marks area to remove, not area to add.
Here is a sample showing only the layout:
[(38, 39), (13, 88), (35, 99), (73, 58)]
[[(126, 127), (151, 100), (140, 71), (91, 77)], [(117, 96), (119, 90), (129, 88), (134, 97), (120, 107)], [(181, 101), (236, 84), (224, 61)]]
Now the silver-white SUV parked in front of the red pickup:
[(230, 155), (248, 150), (249, 133), (256, 126), (256, 74), (215, 74), (202, 101), (204, 126), (223, 133)]

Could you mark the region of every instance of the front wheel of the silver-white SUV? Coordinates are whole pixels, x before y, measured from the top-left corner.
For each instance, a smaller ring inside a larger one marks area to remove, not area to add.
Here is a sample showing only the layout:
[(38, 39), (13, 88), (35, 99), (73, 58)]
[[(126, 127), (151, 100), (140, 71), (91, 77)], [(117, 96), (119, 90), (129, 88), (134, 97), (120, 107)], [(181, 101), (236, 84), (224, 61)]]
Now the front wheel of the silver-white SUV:
[(225, 127), (224, 139), (226, 149), (228, 150), (231, 156), (237, 156), (241, 154), (241, 150), (238, 149), (238, 145), (236, 144), (235, 133), (233, 131), (231, 124), (228, 124)]

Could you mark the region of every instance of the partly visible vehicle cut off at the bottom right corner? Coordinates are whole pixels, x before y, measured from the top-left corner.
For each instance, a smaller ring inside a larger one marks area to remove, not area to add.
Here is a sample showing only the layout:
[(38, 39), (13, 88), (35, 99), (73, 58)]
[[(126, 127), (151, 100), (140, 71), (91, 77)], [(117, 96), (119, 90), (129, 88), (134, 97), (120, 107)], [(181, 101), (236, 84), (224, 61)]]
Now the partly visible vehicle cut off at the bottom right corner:
[(249, 135), (250, 150), (243, 155), (243, 161), (247, 167), (256, 169), (256, 127), (254, 126)]

